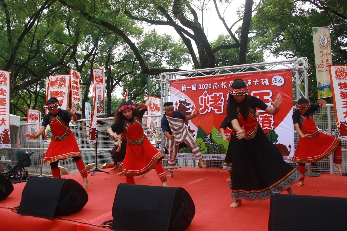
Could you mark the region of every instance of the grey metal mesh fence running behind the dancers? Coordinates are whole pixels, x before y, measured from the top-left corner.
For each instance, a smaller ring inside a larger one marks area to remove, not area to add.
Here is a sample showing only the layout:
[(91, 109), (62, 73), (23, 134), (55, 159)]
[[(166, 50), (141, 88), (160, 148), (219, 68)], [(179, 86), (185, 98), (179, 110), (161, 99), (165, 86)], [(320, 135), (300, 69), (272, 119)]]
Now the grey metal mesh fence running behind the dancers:
[[(155, 117), (156, 124), (160, 125), (160, 117)], [(143, 128), (144, 131), (149, 138), (150, 142), (159, 150), (162, 148), (162, 139), (161, 139), (161, 129), (160, 127), (157, 128), (146, 128), (146, 116), (144, 116), (143, 121)], [(320, 108), (317, 112), (314, 113), (314, 120), (316, 123), (316, 126), (319, 128), (321, 132), (324, 132), (326, 134), (330, 134), (332, 136), (338, 136), (337, 130), (336, 130), (336, 123), (335, 123), (335, 114), (334, 114), (334, 108), (332, 104), (326, 105), (324, 108)], [(81, 149), (82, 158), (84, 163), (90, 164), (95, 163), (95, 150), (97, 149), (97, 163), (102, 166), (105, 163), (112, 163), (112, 158), (110, 155), (110, 150), (113, 148), (114, 141), (102, 134), (99, 133), (98, 136), (98, 145), (97, 148), (95, 148), (95, 144), (88, 144), (87, 143), (87, 129), (86, 125), (88, 125), (88, 120), (78, 120), (77, 122), (71, 122), (70, 128), (71, 131), (74, 133), (77, 143), (79, 145), (79, 148)], [(107, 128), (109, 128), (112, 125), (113, 118), (99, 118), (98, 119), (98, 130), (104, 133), (107, 133)], [(40, 142), (35, 141), (27, 141), (25, 139), (24, 134), (27, 132), (27, 123), (21, 124), (20, 129), (15, 126), (11, 126), (10, 128), (10, 135), (11, 135), (11, 148), (8, 149), (0, 149), (0, 156), (5, 155), (6, 160), (11, 161), (17, 161), (17, 157), (14, 154), (14, 149), (17, 147), (17, 141), (18, 141), (18, 130), (19, 130), (19, 139), (20, 139), (20, 145), (21, 148), (26, 149), (28, 152), (34, 152), (34, 154), (31, 156), (32, 164), (30, 167), (26, 168), (26, 170), (29, 171), (29, 174), (39, 174), (40, 173), (40, 166), (41, 166), (41, 159), (42, 156), (45, 154), (48, 145), (42, 145)], [(295, 148), (297, 146), (298, 141), (298, 134), (296, 131), (294, 131), (294, 137), (295, 137)], [(188, 157), (178, 157), (176, 159), (176, 166), (181, 167), (198, 167), (198, 161), (196, 159), (192, 159), (190, 156), (191, 154), (187, 155)], [(347, 172), (347, 149), (346, 149), (346, 141), (342, 142), (342, 169), (344, 172)], [(221, 168), (221, 164), (223, 163), (223, 160), (204, 160), (206, 161), (206, 165), (208, 168)], [(292, 166), (297, 167), (297, 164), (295, 162), (291, 162), (289, 160), (286, 160), (289, 162)], [(167, 167), (167, 159), (162, 160), (163, 167)], [(59, 166), (62, 166), (66, 168), (70, 173), (76, 173), (78, 172), (77, 167), (74, 163), (74, 160), (72, 158), (62, 160), (59, 163)], [(332, 163), (332, 156), (316, 162), (312, 163), (310, 166), (307, 166), (311, 168), (312, 172), (321, 172), (321, 173), (338, 173), (337, 168), (333, 166)], [(44, 175), (51, 175), (50, 171), (50, 165), (49, 164), (43, 164), (42, 170)]]

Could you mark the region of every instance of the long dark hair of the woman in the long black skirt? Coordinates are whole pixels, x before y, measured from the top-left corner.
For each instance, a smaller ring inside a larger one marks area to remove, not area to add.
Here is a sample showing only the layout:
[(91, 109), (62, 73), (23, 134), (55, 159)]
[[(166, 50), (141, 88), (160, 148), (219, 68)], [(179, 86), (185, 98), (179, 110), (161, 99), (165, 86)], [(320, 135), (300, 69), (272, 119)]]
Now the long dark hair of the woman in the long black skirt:
[[(231, 84), (231, 88), (234, 89), (245, 88), (246, 86), (246, 83), (240, 78), (235, 79), (234, 82), (232, 82)], [(240, 110), (244, 120), (247, 121), (247, 116), (249, 112), (249, 100), (247, 94), (245, 95), (245, 99), (240, 103)], [(230, 93), (227, 101), (227, 114), (237, 118), (237, 101), (235, 100), (234, 95), (231, 95)]]

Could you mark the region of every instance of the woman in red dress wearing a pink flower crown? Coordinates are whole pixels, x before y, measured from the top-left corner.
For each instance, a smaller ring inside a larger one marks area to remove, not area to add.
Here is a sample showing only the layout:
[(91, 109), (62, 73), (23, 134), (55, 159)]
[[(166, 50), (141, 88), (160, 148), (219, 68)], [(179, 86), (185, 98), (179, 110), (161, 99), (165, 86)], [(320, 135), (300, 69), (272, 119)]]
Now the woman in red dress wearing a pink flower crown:
[(119, 152), (121, 145), (123, 145), (121, 132), (124, 132), (128, 140), (124, 160), (119, 166), (122, 175), (126, 176), (127, 183), (135, 184), (135, 176), (140, 176), (155, 168), (163, 186), (168, 186), (165, 172), (160, 163), (164, 155), (151, 144), (142, 128), (142, 117), (149, 103), (150, 100), (145, 103), (138, 103), (141, 108), (137, 110), (133, 103), (122, 102), (115, 112), (113, 125), (107, 129), (107, 132), (118, 140), (119, 146), (116, 152)]

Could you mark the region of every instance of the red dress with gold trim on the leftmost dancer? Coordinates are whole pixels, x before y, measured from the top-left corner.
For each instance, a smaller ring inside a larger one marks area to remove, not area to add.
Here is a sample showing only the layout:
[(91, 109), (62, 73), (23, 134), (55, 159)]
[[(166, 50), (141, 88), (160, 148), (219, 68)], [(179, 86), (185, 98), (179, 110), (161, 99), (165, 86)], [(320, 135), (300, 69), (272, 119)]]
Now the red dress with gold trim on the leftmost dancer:
[[(52, 140), (43, 158), (43, 163), (53, 163), (70, 157), (82, 157), (76, 138), (66, 121), (69, 114), (71, 115), (69, 111), (61, 109), (57, 114), (47, 114), (52, 131)], [(68, 119), (70, 120), (70, 118)], [(42, 122), (42, 126), (45, 126), (44, 122)]]

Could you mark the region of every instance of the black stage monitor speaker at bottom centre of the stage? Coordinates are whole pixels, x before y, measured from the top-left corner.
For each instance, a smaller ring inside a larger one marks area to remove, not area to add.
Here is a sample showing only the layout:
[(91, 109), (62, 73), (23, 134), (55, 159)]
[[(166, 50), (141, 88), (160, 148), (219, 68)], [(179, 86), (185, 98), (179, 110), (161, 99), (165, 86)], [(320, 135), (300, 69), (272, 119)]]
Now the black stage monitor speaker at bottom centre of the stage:
[(121, 183), (113, 202), (111, 229), (183, 231), (194, 214), (194, 202), (183, 188)]

